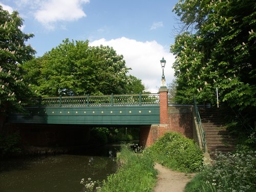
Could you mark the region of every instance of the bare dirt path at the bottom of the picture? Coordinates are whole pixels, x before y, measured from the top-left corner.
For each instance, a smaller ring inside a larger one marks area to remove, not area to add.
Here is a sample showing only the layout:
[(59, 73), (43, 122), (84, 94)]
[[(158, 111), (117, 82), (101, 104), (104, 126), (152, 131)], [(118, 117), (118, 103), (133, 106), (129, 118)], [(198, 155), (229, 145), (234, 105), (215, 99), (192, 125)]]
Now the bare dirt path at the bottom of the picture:
[(158, 163), (155, 168), (159, 172), (155, 192), (182, 192), (185, 185), (195, 176), (195, 174), (175, 172)]

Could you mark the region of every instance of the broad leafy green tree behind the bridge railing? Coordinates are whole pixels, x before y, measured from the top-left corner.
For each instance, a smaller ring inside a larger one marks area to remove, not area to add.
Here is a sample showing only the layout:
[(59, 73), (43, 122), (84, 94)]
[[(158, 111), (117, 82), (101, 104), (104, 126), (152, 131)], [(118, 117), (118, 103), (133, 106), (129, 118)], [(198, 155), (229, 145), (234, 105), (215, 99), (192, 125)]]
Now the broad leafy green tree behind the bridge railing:
[(141, 80), (127, 76), (122, 55), (108, 46), (90, 47), (89, 41), (63, 40), (42, 57), (24, 65), (26, 79), (42, 96), (121, 94), (142, 92)]

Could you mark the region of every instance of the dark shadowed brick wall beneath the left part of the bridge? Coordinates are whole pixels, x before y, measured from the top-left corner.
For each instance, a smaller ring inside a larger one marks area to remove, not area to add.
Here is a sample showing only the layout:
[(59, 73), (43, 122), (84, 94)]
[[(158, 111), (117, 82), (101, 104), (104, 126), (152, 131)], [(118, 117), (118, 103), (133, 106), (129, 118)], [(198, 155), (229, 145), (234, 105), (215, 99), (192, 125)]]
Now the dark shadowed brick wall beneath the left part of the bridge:
[(22, 143), (33, 146), (72, 146), (86, 144), (90, 128), (80, 125), (8, 124), (8, 132), (18, 132)]

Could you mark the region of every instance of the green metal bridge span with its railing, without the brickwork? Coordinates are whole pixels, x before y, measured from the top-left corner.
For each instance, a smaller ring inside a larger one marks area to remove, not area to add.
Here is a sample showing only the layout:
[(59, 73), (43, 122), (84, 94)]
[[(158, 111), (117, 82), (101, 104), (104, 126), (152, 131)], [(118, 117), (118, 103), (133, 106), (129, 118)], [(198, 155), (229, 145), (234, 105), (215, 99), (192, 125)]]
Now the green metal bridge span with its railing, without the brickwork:
[(9, 123), (149, 125), (160, 123), (159, 94), (42, 97)]

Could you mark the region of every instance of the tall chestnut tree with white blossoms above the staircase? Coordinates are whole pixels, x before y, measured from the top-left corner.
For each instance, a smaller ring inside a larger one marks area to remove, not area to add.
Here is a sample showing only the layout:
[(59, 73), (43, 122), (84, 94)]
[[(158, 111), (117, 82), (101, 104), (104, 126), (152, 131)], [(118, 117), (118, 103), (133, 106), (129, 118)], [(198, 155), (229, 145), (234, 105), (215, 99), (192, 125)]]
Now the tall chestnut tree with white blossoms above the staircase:
[(250, 0), (180, 0), (184, 24), (170, 51), (176, 55), (178, 102), (222, 102), (244, 110), (256, 106), (256, 12)]

